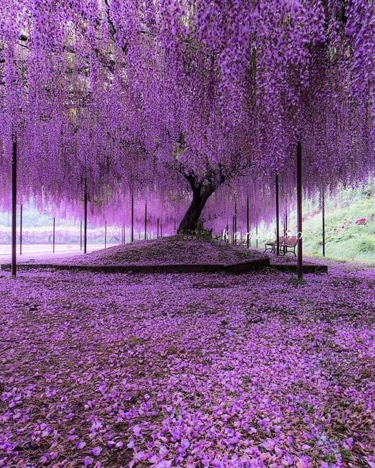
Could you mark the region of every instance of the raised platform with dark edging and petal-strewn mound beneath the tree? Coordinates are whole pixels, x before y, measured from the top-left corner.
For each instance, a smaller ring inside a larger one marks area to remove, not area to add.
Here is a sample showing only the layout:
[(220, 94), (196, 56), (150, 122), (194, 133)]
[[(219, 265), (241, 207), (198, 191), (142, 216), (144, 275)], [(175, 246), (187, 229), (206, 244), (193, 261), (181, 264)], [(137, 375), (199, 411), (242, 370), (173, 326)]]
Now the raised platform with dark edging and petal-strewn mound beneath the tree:
[[(114, 246), (76, 257), (30, 259), (18, 264), (19, 270), (72, 270), (96, 273), (247, 273), (263, 268), (297, 272), (290, 257), (266, 255), (255, 249), (232, 246), (206, 239), (183, 236)], [(10, 270), (10, 264), (1, 265)], [(326, 265), (306, 262), (304, 273), (326, 273)]]

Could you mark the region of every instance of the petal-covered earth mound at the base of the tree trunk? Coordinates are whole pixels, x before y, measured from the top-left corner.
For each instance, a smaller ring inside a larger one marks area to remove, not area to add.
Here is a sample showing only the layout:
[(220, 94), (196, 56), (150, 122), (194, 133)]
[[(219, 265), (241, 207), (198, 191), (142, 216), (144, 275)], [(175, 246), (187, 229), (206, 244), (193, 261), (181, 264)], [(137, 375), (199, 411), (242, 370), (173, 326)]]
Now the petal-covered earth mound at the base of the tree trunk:
[(87, 255), (70, 257), (64, 264), (72, 265), (226, 265), (263, 258), (258, 251), (233, 246), (217, 240), (185, 236), (138, 241), (110, 247)]

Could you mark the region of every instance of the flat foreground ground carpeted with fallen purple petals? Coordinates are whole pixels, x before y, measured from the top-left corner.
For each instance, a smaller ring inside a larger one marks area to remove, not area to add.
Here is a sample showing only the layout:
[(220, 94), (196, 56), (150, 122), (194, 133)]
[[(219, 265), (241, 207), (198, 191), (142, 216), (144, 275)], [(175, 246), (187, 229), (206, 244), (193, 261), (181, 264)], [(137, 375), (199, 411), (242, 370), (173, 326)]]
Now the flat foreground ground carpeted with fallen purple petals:
[(375, 271), (0, 277), (0, 466), (375, 467)]

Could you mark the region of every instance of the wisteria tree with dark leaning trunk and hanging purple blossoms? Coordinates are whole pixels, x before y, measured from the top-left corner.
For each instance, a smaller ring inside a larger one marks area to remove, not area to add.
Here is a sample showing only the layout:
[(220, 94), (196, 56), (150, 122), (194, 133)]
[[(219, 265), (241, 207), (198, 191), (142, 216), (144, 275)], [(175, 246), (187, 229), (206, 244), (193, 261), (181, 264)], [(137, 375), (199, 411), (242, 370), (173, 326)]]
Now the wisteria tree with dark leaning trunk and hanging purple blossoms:
[(16, 134), (34, 196), (190, 187), (180, 232), (228, 181), (290, 171), (297, 140), (325, 182), (362, 178), (374, 17), (367, 0), (4, 0), (3, 164)]

